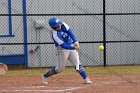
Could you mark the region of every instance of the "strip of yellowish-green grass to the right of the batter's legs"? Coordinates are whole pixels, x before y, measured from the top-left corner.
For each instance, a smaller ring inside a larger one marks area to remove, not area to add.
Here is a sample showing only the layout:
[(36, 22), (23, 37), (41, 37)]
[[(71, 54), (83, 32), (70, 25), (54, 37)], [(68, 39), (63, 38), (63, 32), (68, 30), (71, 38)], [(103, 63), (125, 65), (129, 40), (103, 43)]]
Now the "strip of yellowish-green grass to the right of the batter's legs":
[(95, 67), (90, 74), (100, 75), (140, 75), (140, 66), (108, 66)]

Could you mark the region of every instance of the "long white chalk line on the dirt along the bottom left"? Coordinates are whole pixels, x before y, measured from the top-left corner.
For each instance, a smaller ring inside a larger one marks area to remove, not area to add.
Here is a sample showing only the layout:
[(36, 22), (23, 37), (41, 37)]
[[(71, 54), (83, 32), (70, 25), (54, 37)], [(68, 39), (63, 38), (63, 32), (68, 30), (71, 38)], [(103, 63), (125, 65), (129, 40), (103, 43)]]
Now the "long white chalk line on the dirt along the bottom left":
[[(41, 86), (41, 87), (44, 87), (44, 86)], [(47, 87), (48, 88), (48, 87)], [(49, 88), (53, 88), (53, 87), (49, 87)], [(55, 88), (58, 88), (58, 87), (55, 87)], [(61, 87), (59, 87), (61, 88)], [(66, 87), (65, 87), (66, 88)], [(84, 87), (69, 87), (67, 89), (57, 89), (57, 90), (31, 90), (31, 89), (12, 89), (12, 90), (8, 90), (8, 89), (4, 89), (4, 90), (1, 90), (2, 92), (9, 92), (9, 91), (12, 91), (12, 92), (65, 92), (65, 91), (72, 91), (72, 90), (76, 90), (76, 89), (82, 89)]]

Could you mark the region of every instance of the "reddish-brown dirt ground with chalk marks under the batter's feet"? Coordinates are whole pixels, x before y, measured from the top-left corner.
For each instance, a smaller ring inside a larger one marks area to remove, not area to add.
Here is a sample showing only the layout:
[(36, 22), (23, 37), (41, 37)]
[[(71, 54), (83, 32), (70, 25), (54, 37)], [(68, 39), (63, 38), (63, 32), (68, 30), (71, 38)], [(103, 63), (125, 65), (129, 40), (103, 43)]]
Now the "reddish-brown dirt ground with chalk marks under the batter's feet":
[(41, 76), (0, 76), (0, 93), (140, 93), (140, 75), (92, 75), (93, 84), (79, 76), (59, 75), (42, 84)]

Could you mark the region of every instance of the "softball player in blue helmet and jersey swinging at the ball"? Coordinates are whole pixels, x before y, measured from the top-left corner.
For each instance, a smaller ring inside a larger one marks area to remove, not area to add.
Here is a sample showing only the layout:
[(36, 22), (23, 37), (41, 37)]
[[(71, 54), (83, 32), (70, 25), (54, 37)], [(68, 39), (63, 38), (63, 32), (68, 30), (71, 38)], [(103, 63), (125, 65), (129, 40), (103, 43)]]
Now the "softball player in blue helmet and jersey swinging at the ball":
[[(52, 17), (49, 20), (49, 25), (53, 29), (52, 39), (56, 46), (57, 66), (52, 67), (47, 73), (43, 74), (43, 83), (48, 84), (47, 78), (60, 73), (64, 70), (67, 60), (70, 60), (75, 66), (79, 62), (78, 51), (80, 49), (79, 43), (74, 35), (72, 29), (64, 22), (61, 22), (57, 17)], [(84, 83), (91, 84), (92, 82), (87, 77), (84, 67), (79, 62), (79, 69), (77, 72), (84, 79)]]

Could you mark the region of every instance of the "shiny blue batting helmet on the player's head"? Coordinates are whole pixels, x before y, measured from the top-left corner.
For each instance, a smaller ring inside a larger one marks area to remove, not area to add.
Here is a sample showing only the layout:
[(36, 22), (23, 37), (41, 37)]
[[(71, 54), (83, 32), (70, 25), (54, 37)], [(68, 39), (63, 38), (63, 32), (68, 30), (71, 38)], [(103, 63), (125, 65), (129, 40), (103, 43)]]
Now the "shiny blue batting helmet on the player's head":
[(49, 23), (51, 28), (57, 27), (60, 24), (62, 24), (62, 22), (57, 17), (50, 18), (48, 23)]

